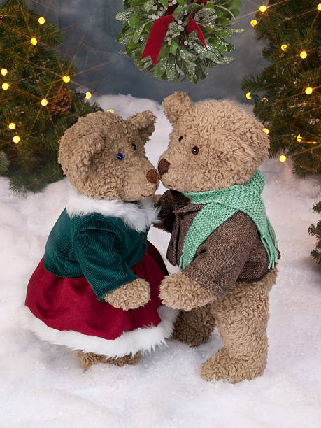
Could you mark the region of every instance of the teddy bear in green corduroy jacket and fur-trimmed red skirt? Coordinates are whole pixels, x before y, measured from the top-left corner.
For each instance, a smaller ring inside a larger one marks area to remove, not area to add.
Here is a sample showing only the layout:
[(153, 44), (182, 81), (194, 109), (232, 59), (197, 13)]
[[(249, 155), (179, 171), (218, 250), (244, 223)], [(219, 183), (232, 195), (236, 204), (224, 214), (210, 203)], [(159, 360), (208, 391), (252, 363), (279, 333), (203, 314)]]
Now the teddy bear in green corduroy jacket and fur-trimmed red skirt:
[(69, 194), (29, 280), (24, 325), (78, 350), (85, 370), (136, 364), (171, 335), (176, 318), (159, 299), (167, 271), (147, 241), (159, 179), (144, 146), (155, 119), (150, 111), (127, 120), (90, 113), (59, 147)]

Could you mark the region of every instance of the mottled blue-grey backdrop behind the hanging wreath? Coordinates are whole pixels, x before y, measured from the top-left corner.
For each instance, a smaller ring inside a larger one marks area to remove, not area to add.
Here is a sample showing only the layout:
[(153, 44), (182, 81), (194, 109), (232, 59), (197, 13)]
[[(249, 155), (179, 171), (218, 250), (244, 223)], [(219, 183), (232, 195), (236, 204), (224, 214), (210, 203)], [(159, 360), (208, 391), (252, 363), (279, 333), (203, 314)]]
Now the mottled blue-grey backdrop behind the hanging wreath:
[(265, 64), (262, 43), (257, 41), (250, 26), (262, 0), (243, 0), (236, 27), (245, 28), (245, 32), (227, 39), (236, 45), (235, 61), (210, 69), (208, 78), (198, 85), (173, 84), (154, 78), (138, 71), (134, 59), (120, 53), (122, 45), (115, 43), (115, 36), (122, 23), (115, 20), (115, 15), (123, 10), (122, 0), (28, 0), (27, 3), (64, 31), (59, 50), (77, 66), (78, 75), (73, 82), (97, 96), (120, 93), (162, 101), (174, 90), (185, 90), (194, 101), (205, 98), (245, 101), (240, 90), (242, 77), (256, 73)]

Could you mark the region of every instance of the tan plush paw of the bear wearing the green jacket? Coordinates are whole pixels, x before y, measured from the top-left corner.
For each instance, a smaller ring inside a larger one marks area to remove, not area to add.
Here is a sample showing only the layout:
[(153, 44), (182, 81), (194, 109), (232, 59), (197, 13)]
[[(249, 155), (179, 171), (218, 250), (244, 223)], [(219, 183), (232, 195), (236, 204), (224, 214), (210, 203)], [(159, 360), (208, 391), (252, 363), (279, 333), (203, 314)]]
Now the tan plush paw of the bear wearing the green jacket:
[(114, 308), (124, 311), (136, 309), (145, 306), (150, 300), (150, 285), (142, 278), (137, 278), (105, 294), (103, 299)]

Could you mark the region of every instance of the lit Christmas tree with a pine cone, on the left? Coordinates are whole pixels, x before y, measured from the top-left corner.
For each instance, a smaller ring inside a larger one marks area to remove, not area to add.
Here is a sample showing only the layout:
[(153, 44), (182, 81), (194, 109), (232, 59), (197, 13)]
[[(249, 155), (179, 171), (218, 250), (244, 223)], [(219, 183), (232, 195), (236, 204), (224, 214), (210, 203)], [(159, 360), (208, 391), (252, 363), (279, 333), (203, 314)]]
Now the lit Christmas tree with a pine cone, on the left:
[(62, 32), (22, 0), (0, 6), (0, 174), (13, 190), (41, 190), (62, 178), (59, 140), (78, 117), (99, 110), (70, 87), (76, 74), (59, 59)]

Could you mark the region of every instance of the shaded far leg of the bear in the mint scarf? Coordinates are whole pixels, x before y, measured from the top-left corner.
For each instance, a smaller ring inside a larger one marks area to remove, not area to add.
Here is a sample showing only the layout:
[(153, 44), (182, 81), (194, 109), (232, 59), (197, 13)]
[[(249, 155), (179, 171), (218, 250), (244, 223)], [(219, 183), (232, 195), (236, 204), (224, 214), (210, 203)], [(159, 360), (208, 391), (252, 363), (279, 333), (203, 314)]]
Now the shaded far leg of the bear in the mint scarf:
[(214, 327), (215, 320), (211, 304), (199, 306), (191, 311), (180, 312), (174, 325), (172, 338), (190, 346), (199, 346), (209, 340)]

